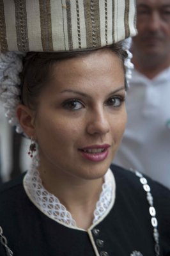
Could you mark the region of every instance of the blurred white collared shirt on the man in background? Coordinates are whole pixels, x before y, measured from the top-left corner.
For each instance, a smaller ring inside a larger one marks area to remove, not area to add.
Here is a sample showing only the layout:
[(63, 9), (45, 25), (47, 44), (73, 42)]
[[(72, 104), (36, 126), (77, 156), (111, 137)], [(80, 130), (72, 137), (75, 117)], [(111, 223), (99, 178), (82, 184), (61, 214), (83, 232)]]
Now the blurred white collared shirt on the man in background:
[(127, 129), (113, 161), (170, 189), (170, 68), (154, 79), (133, 70), (127, 92)]

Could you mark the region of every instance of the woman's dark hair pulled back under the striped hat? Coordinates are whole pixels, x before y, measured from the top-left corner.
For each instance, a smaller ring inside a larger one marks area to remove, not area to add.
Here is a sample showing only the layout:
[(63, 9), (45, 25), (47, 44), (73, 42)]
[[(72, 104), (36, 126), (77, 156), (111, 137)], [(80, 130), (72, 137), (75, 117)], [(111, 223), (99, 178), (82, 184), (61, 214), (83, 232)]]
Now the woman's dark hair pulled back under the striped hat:
[[(100, 49), (73, 51), (73, 52), (27, 52), (23, 60), (23, 70), (20, 74), (20, 100), (22, 104), (31, 109), (35, 109), (38, 104), (38, 95), (50, 79), (50, 71), (55, 63), (69, 58), (77, 58), (79, 56), (86, 56), (94, 51), (101, 49), (109, 49), (116, 53), (120, 58), (124, 67), (124, 60), (127, 57), (127, 52), (123, 51), (121, 42), (107, 45)], [(125, 88), (127, 87), (125, 79)]]

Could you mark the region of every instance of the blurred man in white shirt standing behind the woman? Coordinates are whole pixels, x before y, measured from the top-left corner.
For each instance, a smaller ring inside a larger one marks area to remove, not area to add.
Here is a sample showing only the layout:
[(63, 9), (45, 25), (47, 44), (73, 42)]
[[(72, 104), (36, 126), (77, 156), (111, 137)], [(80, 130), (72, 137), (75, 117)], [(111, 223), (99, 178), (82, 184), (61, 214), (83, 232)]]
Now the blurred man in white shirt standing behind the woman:
[(137, 0), (128, 124), (114, 161), (170, 189), (170, 0)]

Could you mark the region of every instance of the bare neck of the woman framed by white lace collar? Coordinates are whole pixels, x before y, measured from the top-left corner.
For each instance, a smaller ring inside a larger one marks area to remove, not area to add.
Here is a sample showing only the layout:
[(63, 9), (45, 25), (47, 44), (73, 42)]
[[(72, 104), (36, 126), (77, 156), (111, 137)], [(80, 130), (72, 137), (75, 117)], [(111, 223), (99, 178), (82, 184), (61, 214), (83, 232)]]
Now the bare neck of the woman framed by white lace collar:
[(104, 179), (84, 180), (61, 172), (39, 169), (45, 189), (55, 195), (72, 214), (77, 227), (87, 230), (92, 224)]

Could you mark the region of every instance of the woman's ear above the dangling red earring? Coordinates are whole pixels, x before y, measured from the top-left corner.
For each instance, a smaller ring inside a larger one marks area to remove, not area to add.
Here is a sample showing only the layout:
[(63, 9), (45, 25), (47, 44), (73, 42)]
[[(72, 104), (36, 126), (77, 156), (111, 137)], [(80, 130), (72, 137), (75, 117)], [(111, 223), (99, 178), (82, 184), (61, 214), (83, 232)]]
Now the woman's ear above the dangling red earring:
[[(16, 110), (17, 118), (24, 133), (29, 137), (35, 135), (35, 111), (23, 104), (19, 104)], [(34, 138), (35, 139), (35, 138)]]

